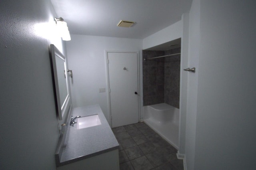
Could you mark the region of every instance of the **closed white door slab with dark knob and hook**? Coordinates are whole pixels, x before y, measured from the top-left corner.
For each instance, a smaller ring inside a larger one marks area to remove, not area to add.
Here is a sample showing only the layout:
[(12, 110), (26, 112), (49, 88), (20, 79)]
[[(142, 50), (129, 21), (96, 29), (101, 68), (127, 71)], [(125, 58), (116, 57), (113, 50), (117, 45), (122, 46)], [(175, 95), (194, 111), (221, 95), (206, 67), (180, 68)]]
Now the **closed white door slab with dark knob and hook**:
[(138, 123), (138, 54), (108, 52), (108, 74), (112, 127)]

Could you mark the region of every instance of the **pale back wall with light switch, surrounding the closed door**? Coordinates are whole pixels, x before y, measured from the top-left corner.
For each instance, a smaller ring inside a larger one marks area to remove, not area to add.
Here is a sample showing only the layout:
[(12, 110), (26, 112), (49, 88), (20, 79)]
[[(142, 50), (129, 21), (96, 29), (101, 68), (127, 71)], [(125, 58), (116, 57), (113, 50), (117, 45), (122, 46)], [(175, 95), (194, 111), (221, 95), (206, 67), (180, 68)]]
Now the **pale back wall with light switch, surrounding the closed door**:
[[(72, 34), (71, 38), (71, 41), (66, 42), (66, 46), (68, 66), (73, 71), (73, 78), (70, 82), (72, 106), (99, 104), (110, 123), (105, 50), (139, 51), (141, 61), (142, 40), (76, 34)], [(140, 73), (142, 74), (141, 63)], [(106, 93), (99, 93), (99, 88), (106, 88)], [(139, 88), (142, 91), (142, 83)], [(140, 101), (142, 102), (142, 97)]]

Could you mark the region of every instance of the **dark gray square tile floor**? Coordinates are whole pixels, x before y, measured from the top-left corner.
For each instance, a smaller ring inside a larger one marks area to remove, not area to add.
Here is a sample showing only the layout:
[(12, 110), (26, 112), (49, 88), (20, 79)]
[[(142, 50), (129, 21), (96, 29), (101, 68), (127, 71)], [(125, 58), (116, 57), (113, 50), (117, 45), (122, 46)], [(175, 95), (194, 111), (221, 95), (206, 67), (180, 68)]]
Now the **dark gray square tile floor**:
[(120, 170), (183, 170), (177, 150), (145, 123), (112, 128), (119, 142)]

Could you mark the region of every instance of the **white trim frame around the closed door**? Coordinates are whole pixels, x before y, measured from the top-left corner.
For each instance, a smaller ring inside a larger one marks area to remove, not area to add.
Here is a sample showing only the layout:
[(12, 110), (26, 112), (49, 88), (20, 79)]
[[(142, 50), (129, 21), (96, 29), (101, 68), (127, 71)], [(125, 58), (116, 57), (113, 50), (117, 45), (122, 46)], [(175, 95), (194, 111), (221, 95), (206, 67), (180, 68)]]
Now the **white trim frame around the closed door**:
[(110, 84), (108, 71), (108, 53), (136, 53), (137, 54), (137, 69), (138, 69), (138, 122), (140, 121), (140, 56), (139, 51), (120, 51), (120, 50), (105, 50), (105, 64), (106, 64), (106, 80), (107, 80), (107, 103), (108, 103), (108, 123), (112, 127), (111, 101), (110, 101)]

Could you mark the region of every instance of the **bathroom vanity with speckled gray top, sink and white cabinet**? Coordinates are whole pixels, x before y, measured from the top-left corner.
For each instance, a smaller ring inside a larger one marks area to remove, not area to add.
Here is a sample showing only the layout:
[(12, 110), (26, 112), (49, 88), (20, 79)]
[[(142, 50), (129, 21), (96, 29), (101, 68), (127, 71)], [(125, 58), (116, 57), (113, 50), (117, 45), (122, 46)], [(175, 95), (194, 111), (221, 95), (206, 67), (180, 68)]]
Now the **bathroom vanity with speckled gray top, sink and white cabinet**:
[(75, 122), (89, 120), (91, 124), (83, 126), (80, 123), (80, 127), (78, 123), (67, 125), (66, 135), (60, 138), (56, 149), (57, 170), (118, 170), (119, 144), (100, 106), (77, 107), (72, 109), (71, 115), (81, 116)]

